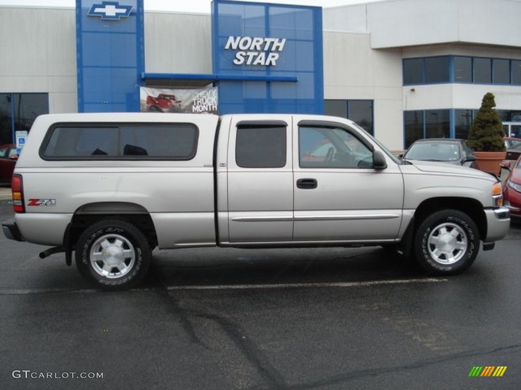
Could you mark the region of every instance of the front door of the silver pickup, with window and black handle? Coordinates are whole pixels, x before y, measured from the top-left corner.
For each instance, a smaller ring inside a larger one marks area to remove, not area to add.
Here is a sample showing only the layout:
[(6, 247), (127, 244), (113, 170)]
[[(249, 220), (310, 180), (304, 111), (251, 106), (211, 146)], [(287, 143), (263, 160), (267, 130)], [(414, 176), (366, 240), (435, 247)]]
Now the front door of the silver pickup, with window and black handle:
[(403, 179), (390, 158), (372, 167), (373, 149), (343, 124), (300, 122), (294, 131), (294, 240), (392, 240), (402, 220)]

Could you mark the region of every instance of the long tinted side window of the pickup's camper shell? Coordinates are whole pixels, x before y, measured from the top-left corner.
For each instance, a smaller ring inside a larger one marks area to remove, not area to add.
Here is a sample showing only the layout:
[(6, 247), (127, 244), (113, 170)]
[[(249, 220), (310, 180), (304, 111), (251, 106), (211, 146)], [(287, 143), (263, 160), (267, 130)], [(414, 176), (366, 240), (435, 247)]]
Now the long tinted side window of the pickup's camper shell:
[(58, 124), (41, 155), (47, 160), (191, 160), (198, 138), (190, 123)]

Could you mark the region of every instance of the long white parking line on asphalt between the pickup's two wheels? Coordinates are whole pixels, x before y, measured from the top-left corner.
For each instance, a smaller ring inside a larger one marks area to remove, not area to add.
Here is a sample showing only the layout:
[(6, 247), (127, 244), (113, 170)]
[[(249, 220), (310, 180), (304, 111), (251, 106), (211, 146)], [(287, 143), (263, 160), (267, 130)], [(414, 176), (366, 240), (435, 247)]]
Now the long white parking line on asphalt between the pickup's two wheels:
[(410, 283), (438, 283), (448, 279), (402, 279), (402, 280), (375, 280), (367, 282), (339, 282), (339, 283), (284, 283), (284, 284), (220, 284), (220, 285), (175, 285), (167, 290), (254, 290), (254, 289), (294, 289), (294, 288), (328, 288), (328, 287), (367, 287), (381, 284), (410, 284)]

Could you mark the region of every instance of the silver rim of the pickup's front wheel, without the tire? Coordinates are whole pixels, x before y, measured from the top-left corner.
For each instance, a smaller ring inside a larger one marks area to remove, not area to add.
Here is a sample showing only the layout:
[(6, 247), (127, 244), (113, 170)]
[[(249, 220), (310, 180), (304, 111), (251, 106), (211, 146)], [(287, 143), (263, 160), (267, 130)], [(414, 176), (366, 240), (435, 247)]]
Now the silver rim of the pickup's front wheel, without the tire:
[(465, 230), (453, 223), (443, 223), (432, 229), (427, 238), (427, 248), (432, 259), (443, 265), (460, 261), (468, 248)]

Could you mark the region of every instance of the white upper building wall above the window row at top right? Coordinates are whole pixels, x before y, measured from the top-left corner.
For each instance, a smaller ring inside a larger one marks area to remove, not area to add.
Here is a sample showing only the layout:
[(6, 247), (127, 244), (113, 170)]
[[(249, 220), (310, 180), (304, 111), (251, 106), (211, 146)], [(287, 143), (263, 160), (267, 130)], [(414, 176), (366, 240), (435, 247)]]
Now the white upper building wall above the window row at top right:
[(519, 46), (521, 2), (391, 0), (324, 10), (324, 29), (370, 32), (371, 47), (451, 42)]

